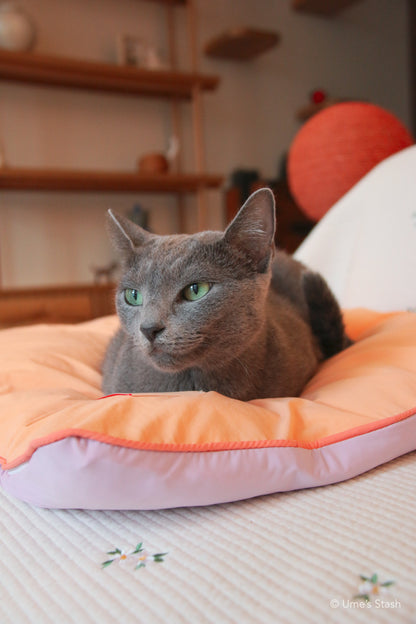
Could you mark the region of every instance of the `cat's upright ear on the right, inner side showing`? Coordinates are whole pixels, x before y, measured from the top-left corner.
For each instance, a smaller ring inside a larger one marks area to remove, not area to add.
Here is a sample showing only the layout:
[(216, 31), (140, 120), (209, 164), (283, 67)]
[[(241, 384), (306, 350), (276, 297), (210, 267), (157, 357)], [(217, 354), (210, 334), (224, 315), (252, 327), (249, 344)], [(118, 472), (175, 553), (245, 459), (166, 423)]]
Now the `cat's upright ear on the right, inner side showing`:
[(276, 211), (274, 195), (262, 188), (247, 199), (224, 233), (225, 241), (242, 249), (256, 263), (258, 271), (267, 270), (274, 251)]

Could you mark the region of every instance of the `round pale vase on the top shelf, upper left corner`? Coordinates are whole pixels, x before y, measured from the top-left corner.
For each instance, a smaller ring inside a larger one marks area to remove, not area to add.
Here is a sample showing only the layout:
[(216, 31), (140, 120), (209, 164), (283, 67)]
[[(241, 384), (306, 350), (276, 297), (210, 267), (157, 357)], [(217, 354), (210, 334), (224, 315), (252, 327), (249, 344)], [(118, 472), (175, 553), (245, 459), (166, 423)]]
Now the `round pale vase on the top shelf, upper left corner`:
[(35, 43), (35, 25), (14, 2), (0, 4), (0, 48), (14, 52), (30, 50)]

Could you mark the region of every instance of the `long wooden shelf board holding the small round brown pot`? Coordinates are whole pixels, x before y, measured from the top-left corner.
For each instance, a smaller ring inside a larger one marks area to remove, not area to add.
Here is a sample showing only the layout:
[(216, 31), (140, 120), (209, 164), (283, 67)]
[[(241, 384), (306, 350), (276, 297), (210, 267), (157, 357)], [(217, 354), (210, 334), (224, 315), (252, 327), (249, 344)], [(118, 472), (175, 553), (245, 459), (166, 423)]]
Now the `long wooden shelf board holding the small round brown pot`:
[(223, 177), (198, 173), (124, 173), (4, 167), (0, 189), (21, 191), (114, 191), (143, 193), (191, 193), (218, 188)]

